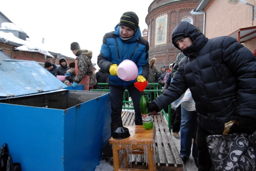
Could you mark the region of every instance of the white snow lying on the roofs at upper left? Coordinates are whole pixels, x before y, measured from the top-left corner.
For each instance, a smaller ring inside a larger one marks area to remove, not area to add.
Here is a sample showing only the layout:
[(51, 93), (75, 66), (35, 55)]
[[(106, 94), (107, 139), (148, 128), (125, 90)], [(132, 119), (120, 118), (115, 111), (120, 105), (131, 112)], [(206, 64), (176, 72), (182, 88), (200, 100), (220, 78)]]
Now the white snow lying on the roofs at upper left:
[[(5, 30), (17, 30), (17, 31), (21, 31), (22, 29), (18, 28), (16, 25), (14, 25), (13, 23), (2, 23), (2, 27), (0, 29), (5, 29)], [(30, 41), (24, 41), (22, 39), (17, 38), (16, 36), (14, 36), (12, 33), (5, 33), (0, 31), (0, 41), (3, 42), (14, 42), (14, 43), (19, 43), (22, 44), (23, 46), (19, 46), (17, 48), (15, 48), (16, 50), (19, 51), (28, 51), (28, 52), (39, 52), (42, 53), (44, 55), (47, 55), (51, 58), (54, 58), (53, 55), (51, 55), (44, 47), (43, 43), (32, 43)], [(29, 40), (29, 39), (27, 39)]]

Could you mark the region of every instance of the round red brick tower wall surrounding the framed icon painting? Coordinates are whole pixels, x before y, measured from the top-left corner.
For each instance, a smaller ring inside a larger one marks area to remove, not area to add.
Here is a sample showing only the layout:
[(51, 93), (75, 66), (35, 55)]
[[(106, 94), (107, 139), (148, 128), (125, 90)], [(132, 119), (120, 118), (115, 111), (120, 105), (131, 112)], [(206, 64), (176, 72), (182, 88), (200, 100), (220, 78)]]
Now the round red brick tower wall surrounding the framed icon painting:
[[(198, 26), (203, 31), (203, 15), (192, 15), (190, 13), (199, 0), (183, 0), (170, 2), (171, 0), (154, 0), (149, 7), (149, 14), (146, 17), (148, 25), (148, 40), (150, 44), (150, 57), (157, 59), (155, 65), (157, 70), (160, 70), (161, 65), (169, 66), (174, 63), (176, 56), (180, 51), (171, 43), (171, 32), (181, 19), (185, 16), (193, 18), (193, 25)], [(169, 2), (169, 3), (168, 3)], [(167, 43), (155, 46), (155, 25), (158, 16), (167, 14)]]

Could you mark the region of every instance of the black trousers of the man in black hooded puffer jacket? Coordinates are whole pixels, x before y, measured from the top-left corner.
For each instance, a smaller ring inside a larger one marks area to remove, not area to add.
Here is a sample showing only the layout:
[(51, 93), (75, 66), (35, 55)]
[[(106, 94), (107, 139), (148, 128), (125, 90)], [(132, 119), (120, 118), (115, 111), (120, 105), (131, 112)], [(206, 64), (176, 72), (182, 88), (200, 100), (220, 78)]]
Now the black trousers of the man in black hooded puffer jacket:
[(210, 154), (207, 148), (205, 136), (213, 135), (210, 132), (203, 130), (200, 125), (197, 127), (196, 132), (196, 145), (198, 149), (198, 171), (210, 171), (212, 164), (210, 159)]

